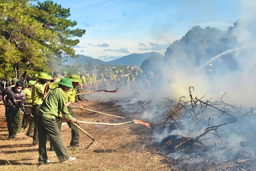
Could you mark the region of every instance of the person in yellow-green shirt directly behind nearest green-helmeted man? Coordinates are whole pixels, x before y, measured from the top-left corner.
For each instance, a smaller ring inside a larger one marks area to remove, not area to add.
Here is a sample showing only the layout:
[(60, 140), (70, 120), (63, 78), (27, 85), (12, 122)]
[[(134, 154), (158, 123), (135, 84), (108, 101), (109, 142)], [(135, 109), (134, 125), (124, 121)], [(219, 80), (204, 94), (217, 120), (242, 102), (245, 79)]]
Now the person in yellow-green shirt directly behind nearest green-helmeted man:
[(34, 133), (33, 133), (33, 143), (32, 145), (38, 144), (38, 131), (37, 131), (37, 114), (44, 98), (44, 88), (48, 80), (48, 74), (45, 72), (40, 72), (37, 76), (38, 81), (33, 86), (31, 92), (32, 99), (32, 115), (34, 116)]

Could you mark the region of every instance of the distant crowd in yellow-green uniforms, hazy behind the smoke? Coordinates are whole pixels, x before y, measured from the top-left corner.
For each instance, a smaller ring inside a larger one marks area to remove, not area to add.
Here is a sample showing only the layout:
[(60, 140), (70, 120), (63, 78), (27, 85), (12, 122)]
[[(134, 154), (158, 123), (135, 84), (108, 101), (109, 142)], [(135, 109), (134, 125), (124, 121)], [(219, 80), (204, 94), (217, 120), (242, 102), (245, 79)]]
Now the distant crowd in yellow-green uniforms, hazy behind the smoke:
[(127, 69), (116, 68), (95, 75), (94, 72), (78, 72), (83, 88), (86, 90), (114, 89), (119, 91), (137, 91), (159, 87), (163, 83), (163, 71), (144, 72), (134, 67)]

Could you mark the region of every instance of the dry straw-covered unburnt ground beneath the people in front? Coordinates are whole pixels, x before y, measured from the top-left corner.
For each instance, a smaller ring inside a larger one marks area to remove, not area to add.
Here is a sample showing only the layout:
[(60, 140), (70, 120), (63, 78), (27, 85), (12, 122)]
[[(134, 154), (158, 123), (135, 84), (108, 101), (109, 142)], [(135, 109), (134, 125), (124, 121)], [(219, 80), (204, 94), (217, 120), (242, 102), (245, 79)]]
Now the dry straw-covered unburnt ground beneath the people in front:
[[(87, 109), (100, 111), (122, 117), (134, 117), (126, 113), (120, 106), (112, 102), (81, 101)], [(76, 105), (80, 105), (76, 103)], [(134, 118), (121, 119), (82, 109), (74, 109), (78, 120), (90, 122), (122, 123)], [(140, 119), (140, 118), (136, 118)], [(140, 119), (141, 120), (141, 119)], [(144, 121), (144, 120), (142, 120)], [(26, 136), (26, 129), (21, 130), (15, 139), (8, 139), (8, 129), (5, 120), (5, 107), (0, 105), (0, 170), (180, 170), (171, 168), (165, 157), (151, 150), (152, 129), (141, 124), (124, 124), (106, 126), (95, 124), (79, 124), (82, 129), (95, 138), (93, 144), (86, 149), (92, 140), (80, 132), (80, 147), (70, 147), (71, 129), (64, 123), (61, 128), (64, 145), (71, 157), (76, 160), (59, 163), (54, 151), (47, 151), (49, 165), (38, 165), (38, 146), (32, 146), (32, 138)], [(49, 148), (49, 143), (47, 142)]]

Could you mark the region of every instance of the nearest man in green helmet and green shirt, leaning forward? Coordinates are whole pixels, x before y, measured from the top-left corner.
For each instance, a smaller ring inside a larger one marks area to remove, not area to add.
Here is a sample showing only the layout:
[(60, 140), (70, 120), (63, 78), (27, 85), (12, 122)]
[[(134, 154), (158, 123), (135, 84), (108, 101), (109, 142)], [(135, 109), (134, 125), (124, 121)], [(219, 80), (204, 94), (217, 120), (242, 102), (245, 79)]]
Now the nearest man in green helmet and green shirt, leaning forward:
[(61, 116), (61, 113), (72, 123), (77, 123), (76, 118), (70, 115), (65, 105), (66, 99), (64, 92), (67, 92), (70, 88), (73, 89), (72, 81), (69, 80), (69, 78), (62, 78), (58, 84), (59, 87), (51, 90), (46, 96), (38, 112), (39, 165), (50, 162), (47, 160), (47, 136), (49, 137), (60, 162), (67, 162), (76, 159), (76, 157), (70, 157), (68, 155), (63, 144), (61, 132), (59, 131), (58, 124), (56, 123), (56, 119)]

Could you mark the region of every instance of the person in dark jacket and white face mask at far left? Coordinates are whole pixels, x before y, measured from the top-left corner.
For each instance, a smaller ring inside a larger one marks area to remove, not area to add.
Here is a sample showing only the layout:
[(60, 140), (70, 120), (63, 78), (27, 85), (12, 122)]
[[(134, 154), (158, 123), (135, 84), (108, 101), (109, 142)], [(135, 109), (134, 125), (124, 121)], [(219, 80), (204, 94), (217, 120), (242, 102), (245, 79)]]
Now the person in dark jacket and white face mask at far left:
[(8, 127), (8, 138), (16, 138), (21, 130), (21, 111), (24, 107), (25, 93), (21, 90), (23, 84), (17, 81), (14, 87), (7, 87), (0, 94), (0, 101), (5, 105), (5, 116)]

